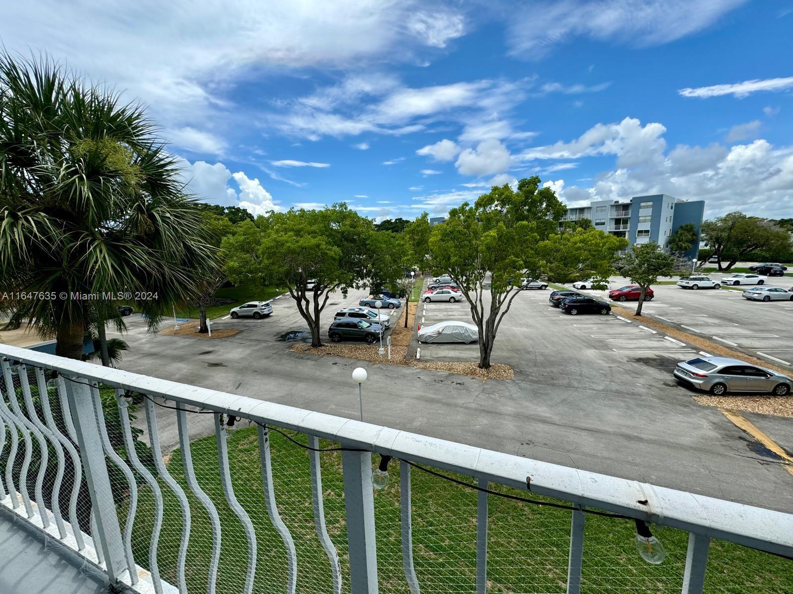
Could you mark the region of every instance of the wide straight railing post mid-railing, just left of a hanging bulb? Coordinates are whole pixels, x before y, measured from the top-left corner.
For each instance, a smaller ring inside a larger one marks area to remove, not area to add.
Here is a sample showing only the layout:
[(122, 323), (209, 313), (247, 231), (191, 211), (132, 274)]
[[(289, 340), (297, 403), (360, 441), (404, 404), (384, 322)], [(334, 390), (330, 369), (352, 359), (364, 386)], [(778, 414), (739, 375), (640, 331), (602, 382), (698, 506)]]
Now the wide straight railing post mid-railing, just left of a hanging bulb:
[(343, 451), (342, 470), (347, 548), (350, 551), (350, 589), (352, 594), (377, 594), (372, 453)]

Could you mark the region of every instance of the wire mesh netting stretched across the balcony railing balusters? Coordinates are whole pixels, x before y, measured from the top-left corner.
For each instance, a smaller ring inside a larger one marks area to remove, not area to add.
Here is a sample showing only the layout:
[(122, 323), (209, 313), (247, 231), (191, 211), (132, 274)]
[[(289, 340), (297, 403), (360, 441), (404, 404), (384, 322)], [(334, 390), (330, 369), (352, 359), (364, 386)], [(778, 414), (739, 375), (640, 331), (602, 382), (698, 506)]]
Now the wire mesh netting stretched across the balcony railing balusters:
[[(44, 419), (42, 398), (37, 390), (35, 372), (27, 371), (36, 414)], [(52, 493), (56, 493), (59, 508), (68, 521), (74, 469), (69, 455), (63, 456), (63, 477), (59, 489), (54, 489), (58, 473), (58, 455), (53, 444), (47, 444), (44, 472), (44, 452), (36, 436), (27, 428), (14, 425), (10, 414), (32, 421), (33, 414), (25, 406), (24, 390), (19, 375), (12, 373), (13, 390), (3, 388), (0, 421), (5, 438), (0, 447), (0, 474), (3, 484), (13, 484), (17, 493), (24, 484), (31, 500), (35, 500), (36, 482), (41, 476), (41, 497), (52, 508)], [(67, 420), (61, 414), (57, 384), (48, 383), (47, 401), (56, 426), (69, 436)], [(129, 409), (132, 436), (137, 459), (151, 474), (156, 488), (152, 488), (144, 474), (136, 470), (125, 447), (122, 417), (119, 414), (115, 390), (101, 386), (98, 395), (105, 419), (108, 442), (125, 465), (132, 469), (137, 501), (132, 524), (132, 553), (135, 562), (152, 569), (156, 560), (159, 574), (170, 584), (178, 584), (180, 546), (183, 539), (182, 505), (174, 490), (158, 471), (151, 448), (151, 436), (145, 423), (146, 400), (142, 395), (132, 398)], [(13, 403), (17, 398), (20, 405)], [(163, 404), (163, 401), (158, 401)], [(173, 402), (166, 403), (174, 406)], [(190, 428), (190, 459), (193, 473), (203, 493), (209, 497), (220, 523), (220, 562), (216, 572), (213, 565), (213, 513), (190, 489), (186, 457), (178, 447), (177, 412), (157, 406), (159, 441), (167, 472), (186, 494), (190, 508), (190, 538), (186, 547), (185, 581), (190, 592), (207, 592), (208, 584), (216, 582), (216, 592), (243, 592), (249, 578), (249, 535), (238, 512), (229, 505), (230, 493), (243, 508), (253, 527), (256, 548), (253, 592), (288, 592), (289, 547), (293, 542), (297, 559), (296, 592), (333, 592), (333, 563), (317, 535), (312, 501), (311, 453), (301, 447), (308, 444), (306, 436), (285, 431), (292, 438), (274, 431), (266, 433), (266, 447), (270, 448), (272, 486), (280, 520), (289, 537), (280, 534), (270, 519), (266, 490), (262, 481), (262, 458), (259, 426), (237, 421), (234, 428), (224, 429), (228, 450), (228, 472), (231, 487), (224, 489), (219, 463), (218, 438), (213, 414), (199, 414), (190, 408), (186, 413)], [(5, 412), (9, 411), (9, 412)], [(137, 417), (135, 420), (134, 417)], [(225, 421), (225, 419), (223, 419)], [(137, 428), (137, 429), (136, 429)], [(28, 442), (25, 440), (27, 433)], [(11, 453), (12, 435), (17, 437), (17, 451)], [(297, 443), (294, 443), (297, 442)], [(72, 440), (76, 447), (76, 441)], [(324, 440), (321, 448), (339, 447)], [(25, 468), (25, 452), (30, 448)], [(342, 453), (323, 451), (319, 454), (322, 481), (324, 521), (328, 536), (339, 558), (342, 592), (350, 591), (350, 567), (347, 552)], [(379, 457), (373, 456), (373, 470)], [(113, 497), (117, 504), (122, 531), (125, 529), (132, 488), (125, 473), (112, 460), (107, 460)], [(71, 469), (71, 470), (70, 470)], [(435, 469), (436, 471), (439, 471)], [(473, 479), (440, 471), (446, 477), (469, 483), (459, 485), (442, 477), (412, 468), (410, 502), (412, 505), (412, 562), (418, 584), (423, 592), (474, 592), (477, 576), (477, 490)], [(11, 480), (8, 480), (8, 477)], [(90, 533), (90, 497), (84, 474), (78, 497), (79, 524)], [(554, 501), (533, 493), (488, 485), (498, 493)], [(159, 535), (152, 539), (158, 520), (158, 495), (163, 514)], [(488, 495), (487, 569), (488, 592), (565, 592), (568, 571), (570, 523), (572, 512), (567, 509), (540, 507), (498, 495)], [(6, 500), (8, 498), (6, 497)], [(563, 501), (555, 501), (565, 504)], [(21, 505), (21, 499), (20, 499)], [(400, 521), (400, 462), (389, 465), (389, 484), (374, 492), (374, 512), (377, 542), (377, 574), (381, 592), (408, 592), (408, 579), (403, 565), (403, 540)], [(666, 558), (662, 565), (648, 565), (634, 550), (634, 524), (628, 520), (589, 515), (586, 518), (584, 560), (581, 592), (680, 592), (683, 581), (688, 535), (671, 528), (653, 527), (653, 534), (664, 543)], [(152, 548), (153, 547), (153, 548)], [(155, 551), (155, 556), (152, 555)], [(155, 559), (156, 557), (156, 559)], [(713, 541), (708, 563), (705, 592), (760, 592), (778, 594), (793, 592), (791, 562), (762, 554), (745, 547)]]

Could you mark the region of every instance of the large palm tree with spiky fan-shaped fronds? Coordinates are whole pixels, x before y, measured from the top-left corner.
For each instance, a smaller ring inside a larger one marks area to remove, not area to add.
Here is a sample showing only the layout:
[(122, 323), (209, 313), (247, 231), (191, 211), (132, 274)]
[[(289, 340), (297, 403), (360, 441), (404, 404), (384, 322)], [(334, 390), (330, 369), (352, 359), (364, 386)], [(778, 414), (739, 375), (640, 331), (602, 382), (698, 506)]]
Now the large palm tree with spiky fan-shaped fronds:
[(215, 258), (201, 235), (140, 105), (48, 59), (0, 54), (0, 311), (12, 326), (55, 337), (73, 359), (119, 300), (155, 328)]

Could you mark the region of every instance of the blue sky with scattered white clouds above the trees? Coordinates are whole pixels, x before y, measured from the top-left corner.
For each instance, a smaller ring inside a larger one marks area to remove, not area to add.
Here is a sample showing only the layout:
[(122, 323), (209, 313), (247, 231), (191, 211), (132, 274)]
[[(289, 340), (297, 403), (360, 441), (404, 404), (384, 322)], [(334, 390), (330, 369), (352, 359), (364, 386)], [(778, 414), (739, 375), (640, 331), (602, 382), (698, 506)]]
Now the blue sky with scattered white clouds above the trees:
[[(66, 5), (69, 6), (66, 6)], [(94, 6), (95, 5), (95, 6)], [(793, 2), (14, 2), (7, 50), (140, 99), (191, 192), (442, 215), (534, 174), (793, 215)]]

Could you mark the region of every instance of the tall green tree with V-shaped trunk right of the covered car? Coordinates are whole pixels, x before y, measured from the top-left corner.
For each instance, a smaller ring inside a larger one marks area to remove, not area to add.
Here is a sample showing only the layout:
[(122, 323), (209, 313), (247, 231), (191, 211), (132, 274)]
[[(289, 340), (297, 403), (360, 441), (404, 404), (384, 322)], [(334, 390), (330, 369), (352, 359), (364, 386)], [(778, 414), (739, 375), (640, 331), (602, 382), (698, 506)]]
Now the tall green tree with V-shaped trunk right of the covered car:
[(538, 242), (558, 229), (565, 205), (537, 176), (517, 190), (494, 186), (472, 205), (452, 208), (431, 229), (431, 267), (449, 274), (469, 303), (479, 330), (479, 367), (490, 367), (499, 326), (519, 293), (520, 278), (540, 272)]

